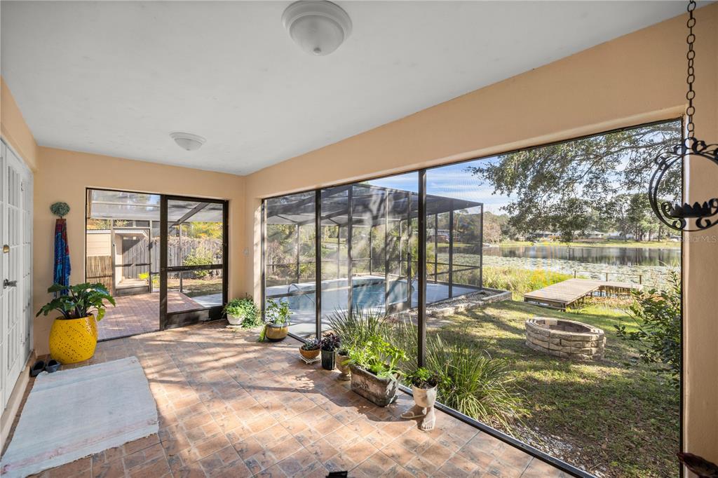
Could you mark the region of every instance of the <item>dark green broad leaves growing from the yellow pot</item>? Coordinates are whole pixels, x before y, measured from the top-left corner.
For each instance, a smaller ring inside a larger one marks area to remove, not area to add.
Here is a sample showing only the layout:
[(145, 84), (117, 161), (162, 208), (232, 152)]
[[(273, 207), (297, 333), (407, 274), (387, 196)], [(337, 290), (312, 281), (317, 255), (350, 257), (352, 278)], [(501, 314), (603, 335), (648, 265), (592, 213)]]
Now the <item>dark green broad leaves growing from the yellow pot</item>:
[(79, 283), (75, 286), (55, 283), (47, 289), (47, 292), (50, 294), (67, 292), (67, 295), (52, 299), (37, 311), (35, 317), (58, 311), (62, 314), (61, 319), (82, 319), (95, 311), (95, 319), (100, 321), (105, 317), (105, 301), (115, 305), (115, 299), (101, 283)]

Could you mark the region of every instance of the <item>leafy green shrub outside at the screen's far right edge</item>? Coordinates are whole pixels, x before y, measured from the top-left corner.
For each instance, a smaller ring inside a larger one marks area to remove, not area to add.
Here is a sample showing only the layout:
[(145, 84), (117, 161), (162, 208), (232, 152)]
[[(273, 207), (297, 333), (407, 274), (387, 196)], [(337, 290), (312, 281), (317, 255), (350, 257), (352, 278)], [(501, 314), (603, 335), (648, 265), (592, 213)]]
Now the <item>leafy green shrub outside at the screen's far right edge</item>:
[(667, 289), (632, 291), (628, 314), (637, 330), (616, 325), (618, 337), (637, 345), (645, 363), (661, 364), (676, 388), (681, 378), (681, 278), (668, 271)]

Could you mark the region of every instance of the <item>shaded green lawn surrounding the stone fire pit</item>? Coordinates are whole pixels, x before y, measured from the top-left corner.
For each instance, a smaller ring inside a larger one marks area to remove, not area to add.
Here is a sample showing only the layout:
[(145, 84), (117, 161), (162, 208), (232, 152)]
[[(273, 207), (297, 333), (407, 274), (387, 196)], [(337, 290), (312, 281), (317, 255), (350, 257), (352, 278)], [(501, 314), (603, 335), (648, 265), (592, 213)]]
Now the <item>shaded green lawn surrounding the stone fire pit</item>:
[[(604, 329), (605, 360), (570, 362), (529, 349), (523, 323), (536, 316)], [(613, 326), (621, 319), (610, 304), (571, 313), (503, 301), (453, 317), (442, 337), (488, 341), (490, 355), (510, 360), (526, 408), (518, 438), (602, 476), (676, 476), (679, 395), (618, 339)]]

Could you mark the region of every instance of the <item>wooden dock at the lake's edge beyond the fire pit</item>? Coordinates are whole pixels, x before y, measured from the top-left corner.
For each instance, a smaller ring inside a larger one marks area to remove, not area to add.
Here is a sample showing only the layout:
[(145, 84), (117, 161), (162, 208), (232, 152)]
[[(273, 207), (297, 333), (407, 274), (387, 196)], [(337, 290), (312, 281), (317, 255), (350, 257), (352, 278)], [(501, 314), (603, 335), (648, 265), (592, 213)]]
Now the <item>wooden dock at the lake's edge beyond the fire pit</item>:
[(566, 310), (586, 297), (595, 294), (628, 295), (632, 290), (643, 289), (632, 282), (594, 281), (592, 279), (572, 278), (551, 286), (538, 289), (538, 291), (523, 294), (523, 301), (554, 309)]

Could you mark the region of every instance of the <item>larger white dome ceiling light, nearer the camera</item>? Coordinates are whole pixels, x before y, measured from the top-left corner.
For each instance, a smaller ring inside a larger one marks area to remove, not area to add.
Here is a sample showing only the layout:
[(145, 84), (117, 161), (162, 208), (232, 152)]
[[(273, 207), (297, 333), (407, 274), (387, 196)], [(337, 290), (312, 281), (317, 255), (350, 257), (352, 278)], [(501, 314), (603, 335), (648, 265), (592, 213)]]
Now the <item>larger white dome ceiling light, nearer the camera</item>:
[(326, 0), (300, 0), (286, 7), (281, 22), (302, 50), (329, 55), (352, 32), (352, 20), (342, 7)]

